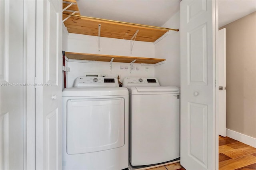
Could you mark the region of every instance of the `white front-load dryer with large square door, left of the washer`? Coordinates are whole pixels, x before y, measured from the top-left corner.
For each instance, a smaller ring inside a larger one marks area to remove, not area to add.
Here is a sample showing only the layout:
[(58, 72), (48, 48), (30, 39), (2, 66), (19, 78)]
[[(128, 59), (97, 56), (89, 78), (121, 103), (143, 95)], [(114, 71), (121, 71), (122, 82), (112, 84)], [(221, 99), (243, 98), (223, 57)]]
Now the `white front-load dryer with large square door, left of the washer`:
[(78, 77), (62, 92), (62, 169), (128, 168), (128, 90), (113, 77)]

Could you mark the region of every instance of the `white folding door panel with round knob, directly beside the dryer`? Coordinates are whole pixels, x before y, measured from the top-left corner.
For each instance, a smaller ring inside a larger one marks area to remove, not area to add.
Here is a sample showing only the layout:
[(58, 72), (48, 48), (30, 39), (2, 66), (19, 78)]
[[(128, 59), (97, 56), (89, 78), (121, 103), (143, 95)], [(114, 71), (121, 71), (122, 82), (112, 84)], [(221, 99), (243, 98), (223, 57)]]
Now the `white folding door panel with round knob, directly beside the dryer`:
[(62, 1), (36, 1), (36, 169), (62, 169)]

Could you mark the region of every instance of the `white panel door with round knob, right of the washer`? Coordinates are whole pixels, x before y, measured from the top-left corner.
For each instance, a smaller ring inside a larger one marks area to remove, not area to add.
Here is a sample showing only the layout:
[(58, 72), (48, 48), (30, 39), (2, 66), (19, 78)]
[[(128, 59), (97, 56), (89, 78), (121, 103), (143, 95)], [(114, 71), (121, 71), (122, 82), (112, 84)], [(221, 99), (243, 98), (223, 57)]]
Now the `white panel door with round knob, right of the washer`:
[(180, 3), (180, 164), (188, 170), (218, 168), (215, 149), (215, 5), (215, 0), (182, 0)]

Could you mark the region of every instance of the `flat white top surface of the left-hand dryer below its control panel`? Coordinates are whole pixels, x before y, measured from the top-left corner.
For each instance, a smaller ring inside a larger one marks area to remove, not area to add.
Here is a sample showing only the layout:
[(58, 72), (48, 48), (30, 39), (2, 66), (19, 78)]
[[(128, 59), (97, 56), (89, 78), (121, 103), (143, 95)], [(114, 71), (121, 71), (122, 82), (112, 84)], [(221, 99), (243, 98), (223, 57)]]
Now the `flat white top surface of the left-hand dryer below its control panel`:
[(62, 97), (89, 97), (89, 96), (118, 96), (128, 95), (124, 87), (97, 87), (97, 88), (66, 88), (62, 91)]

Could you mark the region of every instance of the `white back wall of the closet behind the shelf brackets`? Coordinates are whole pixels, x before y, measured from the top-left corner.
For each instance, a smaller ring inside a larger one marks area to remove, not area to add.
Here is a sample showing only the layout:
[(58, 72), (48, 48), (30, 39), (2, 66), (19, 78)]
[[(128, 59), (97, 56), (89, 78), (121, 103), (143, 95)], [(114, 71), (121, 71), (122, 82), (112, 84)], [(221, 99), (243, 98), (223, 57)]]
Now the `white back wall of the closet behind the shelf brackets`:
[[(96, 53), (106, 55), (122, 55), (135, 57), (154, 58), (154, 43), (139, 42), (134, 43), (132, 54), (130, 53), (130, 41), (114, 38), (100, 38), (100, 51), (98, 51), (98, 37), (80, 34), (68, 35), (68, 52), (76, 53)], [(84, 73), (105, 74), (108, 77), (120, 75), (121, 82), (124, 77), (154, 77), (154, 66), (142, 66), (135, 63), (134, 70), (130, 73), (130, 63), (112, 64), (110, 73), (110, 63), (101, 61), (70, 62), (66, 61), (70, 72), (67, 73), (67, 87), (72, 87), (76, 77), (84, 76)], [(120, 66), (128, 69), (120, 69)]]

